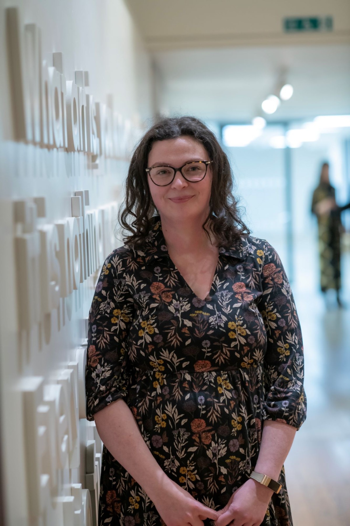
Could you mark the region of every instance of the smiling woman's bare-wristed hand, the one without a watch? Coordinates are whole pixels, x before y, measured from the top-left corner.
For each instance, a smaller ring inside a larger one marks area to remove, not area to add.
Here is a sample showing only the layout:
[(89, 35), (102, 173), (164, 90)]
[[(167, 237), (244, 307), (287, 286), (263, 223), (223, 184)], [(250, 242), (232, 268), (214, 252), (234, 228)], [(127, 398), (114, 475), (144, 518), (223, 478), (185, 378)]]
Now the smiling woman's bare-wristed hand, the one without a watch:
[(203, 526), (204, 519), (216, 520), (219, 517), (217, 511), (198, 502), (169, 478), (162, 491), (153, 498), (153, 503), (166, 526)]

